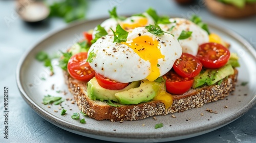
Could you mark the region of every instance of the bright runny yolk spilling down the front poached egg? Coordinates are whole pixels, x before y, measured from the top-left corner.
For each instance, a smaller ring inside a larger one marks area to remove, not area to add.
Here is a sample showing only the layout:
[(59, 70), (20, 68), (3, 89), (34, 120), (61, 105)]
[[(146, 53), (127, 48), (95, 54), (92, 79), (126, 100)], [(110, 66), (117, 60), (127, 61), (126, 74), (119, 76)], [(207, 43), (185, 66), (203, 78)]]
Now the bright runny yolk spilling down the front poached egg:
[(150, 36), (139, 36), (133, 39), (132, 42), (123, 42), (127, 46), (131, 47), (136, 54), (145, 61), (149, 61), (151, 64), (150, 74), (146, 77), (149, 81), (154, 81), (160, 76), (160, 70), (158, 68), (158, 59), (164, 58), (160, 51), (160, 44), (157, 40), (153, 40)]

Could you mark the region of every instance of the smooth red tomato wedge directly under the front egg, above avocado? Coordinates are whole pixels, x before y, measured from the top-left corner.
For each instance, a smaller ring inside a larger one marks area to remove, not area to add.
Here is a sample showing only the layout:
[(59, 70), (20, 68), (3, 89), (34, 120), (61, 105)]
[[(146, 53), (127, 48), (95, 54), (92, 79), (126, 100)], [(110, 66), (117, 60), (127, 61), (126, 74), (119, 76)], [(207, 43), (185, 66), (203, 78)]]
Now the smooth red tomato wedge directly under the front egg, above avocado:
[(106, 89), (119, 90), (129, 85), (129, 83), (120, 83), (120, 82), (116, 82), (108, 78), (105, 78), (104, 76), (98, 74), (97, 72), (96, 72), (95, 78), (97, 79), (98, 84), (101, 87)]

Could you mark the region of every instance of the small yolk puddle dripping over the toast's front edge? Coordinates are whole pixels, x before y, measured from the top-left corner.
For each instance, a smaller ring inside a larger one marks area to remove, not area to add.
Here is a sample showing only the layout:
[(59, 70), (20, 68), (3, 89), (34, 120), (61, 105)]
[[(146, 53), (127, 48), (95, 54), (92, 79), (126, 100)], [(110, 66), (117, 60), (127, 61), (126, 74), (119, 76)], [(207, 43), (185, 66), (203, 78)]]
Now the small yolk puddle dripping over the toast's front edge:
[(159, 90), (157, 96), (153, 99), (153, 101), (160, 101), (165, 105), (165, 108), (168, 109), (173, 105), (173, 96), (166, 92), (163, 87)]

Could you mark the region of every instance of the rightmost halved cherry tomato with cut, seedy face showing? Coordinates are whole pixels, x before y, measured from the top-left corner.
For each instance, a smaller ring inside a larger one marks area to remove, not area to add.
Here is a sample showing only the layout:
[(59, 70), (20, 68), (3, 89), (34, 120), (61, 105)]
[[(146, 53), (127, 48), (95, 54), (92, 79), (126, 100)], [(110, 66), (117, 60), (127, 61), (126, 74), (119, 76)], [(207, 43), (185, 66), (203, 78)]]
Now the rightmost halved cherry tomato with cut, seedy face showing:
[(218, 43), (204, 43), (199, 46), (197, 58), (206, 68), (220, 68), (230, 57), (229, 50)]

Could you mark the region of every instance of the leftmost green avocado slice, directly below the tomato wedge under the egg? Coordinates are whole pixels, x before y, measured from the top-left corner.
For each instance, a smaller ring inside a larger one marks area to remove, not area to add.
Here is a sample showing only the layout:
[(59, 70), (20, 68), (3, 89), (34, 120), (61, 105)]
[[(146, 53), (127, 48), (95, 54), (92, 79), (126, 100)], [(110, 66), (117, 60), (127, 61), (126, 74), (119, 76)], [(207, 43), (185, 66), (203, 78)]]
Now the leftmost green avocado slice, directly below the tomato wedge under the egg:
[(92, 78), (88, 83), (87, 83), (87, 93), (88, 93), (88, 97), (91, 100), (111, 100), (111, 101), (115, 101), (118, 102), (118, 100), (115, 97), (115, 93), (117, 92), (121, 92), (124, 90), (129, 90), (131, 88), (136, 88), (140, 86), (140, 81), (135, 81), (130, 83), (128, 86), (126, 86), (123, 89), (120, 90), (110, 90), (110, 89), (105, 89), (103, 87), (101, 87), (96, 78)]

